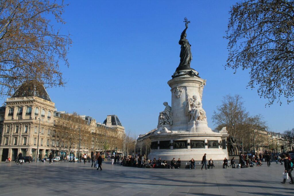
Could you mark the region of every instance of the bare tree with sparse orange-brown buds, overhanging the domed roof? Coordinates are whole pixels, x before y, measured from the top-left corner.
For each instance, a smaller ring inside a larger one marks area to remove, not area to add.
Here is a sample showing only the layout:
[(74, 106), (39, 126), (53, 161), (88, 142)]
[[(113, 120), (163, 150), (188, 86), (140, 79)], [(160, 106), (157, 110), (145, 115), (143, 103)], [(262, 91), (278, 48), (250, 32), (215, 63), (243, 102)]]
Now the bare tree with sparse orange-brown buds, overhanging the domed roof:
[(10, 96), (24, 81), (64, 84), (59, 61), (69, 66), (71, 39), (49, 19), (64, 24), (64, 6), (63, 1), (0, 1), (0, 95)]

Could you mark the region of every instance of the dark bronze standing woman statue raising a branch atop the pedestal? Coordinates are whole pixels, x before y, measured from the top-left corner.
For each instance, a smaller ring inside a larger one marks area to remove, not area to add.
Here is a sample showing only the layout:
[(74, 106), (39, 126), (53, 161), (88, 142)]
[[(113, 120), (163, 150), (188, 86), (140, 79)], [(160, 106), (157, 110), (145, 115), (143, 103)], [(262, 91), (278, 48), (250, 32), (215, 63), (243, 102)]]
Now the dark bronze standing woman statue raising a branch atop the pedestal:
[(181, 67), (190, 67), (190, 62), (192, 60), (192, 54), (191, 54), (191, 45), (189, 44), (188, 40), (186, 39), (187, 34), (186, 34), (186, 30), (188, 29), (188, 24), (190, 23), (190, 21), (188, 21), (185, 18), (185, 25), (186, 25), (186, 29), (184, 29), (184, 31), (181, 34), (181, 39), (179, 41), (179, 44), (181, 45), (181, 53), (180, 53), (180, 64), (178, 66), (178, 68)]

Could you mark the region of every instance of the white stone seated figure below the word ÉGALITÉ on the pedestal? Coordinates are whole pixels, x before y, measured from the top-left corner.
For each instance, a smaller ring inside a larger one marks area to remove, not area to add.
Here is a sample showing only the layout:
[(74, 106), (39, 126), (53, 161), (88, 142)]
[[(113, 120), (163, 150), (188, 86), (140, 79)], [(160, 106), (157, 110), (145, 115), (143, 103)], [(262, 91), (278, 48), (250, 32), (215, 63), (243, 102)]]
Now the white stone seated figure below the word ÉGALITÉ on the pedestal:
[(197, 100), (196, 95), (190, 100), (187, 94), (186, 116), (189, 115), (190, 121), (193, 120), (206, 120), (205, 111), (202, 109), (202, 103)]

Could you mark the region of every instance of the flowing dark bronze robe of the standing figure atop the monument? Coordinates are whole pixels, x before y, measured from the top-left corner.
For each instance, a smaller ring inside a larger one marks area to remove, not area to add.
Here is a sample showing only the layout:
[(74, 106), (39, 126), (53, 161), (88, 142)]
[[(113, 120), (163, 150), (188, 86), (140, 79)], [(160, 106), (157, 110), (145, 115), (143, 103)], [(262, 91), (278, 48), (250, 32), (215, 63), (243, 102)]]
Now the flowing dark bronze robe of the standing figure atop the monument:
[(178, 67), (188, 66), (190, 67), (190, 62), (192, 60), (191, 46), (186, 38), (180, 39), (179, 44), (181, 45), (180, 52), (180, 64)]

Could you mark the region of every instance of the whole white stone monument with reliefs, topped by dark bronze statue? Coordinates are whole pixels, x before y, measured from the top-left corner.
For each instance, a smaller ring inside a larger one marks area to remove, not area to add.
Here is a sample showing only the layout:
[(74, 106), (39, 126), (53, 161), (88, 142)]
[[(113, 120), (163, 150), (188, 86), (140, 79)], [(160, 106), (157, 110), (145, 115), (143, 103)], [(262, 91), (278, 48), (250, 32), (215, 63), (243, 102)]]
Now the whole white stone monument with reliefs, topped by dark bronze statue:
[(217, 163), (228, 158), (228, 132), (223, 129), (216, 133), (207, 125), (206, 113), (202, 108), (202, 92), (206, 80), (190, 68), (192, 55), (186, 39), (186, 29), (179, 42), (182, 45), (180, 65), (168, 81), (171, 87), (171, 106), (167, 102), (163, 103), (166, 108), (159, 113), (157, 131), (150, 137), (152, 150), (148, 158), (167, 161), (181, 158), (184, 162), (194, 158), (197, 164), (206, 153), (207, 160), (212, 158)]

